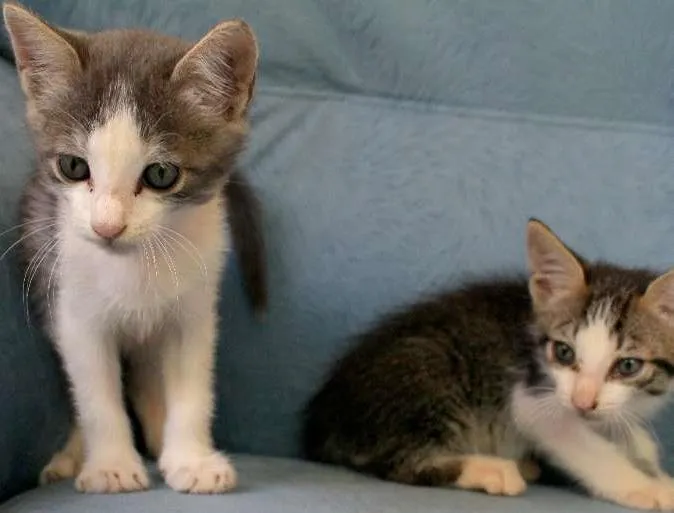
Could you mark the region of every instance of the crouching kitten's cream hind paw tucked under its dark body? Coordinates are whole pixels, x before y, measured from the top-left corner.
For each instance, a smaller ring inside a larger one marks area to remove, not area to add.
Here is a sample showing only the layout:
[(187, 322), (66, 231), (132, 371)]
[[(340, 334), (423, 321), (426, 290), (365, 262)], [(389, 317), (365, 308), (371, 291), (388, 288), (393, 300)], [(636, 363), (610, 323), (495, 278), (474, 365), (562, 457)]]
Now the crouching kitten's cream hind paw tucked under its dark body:
[(517, 462), (489, 456), (467, 456), (456, 486), (490, 495), (520, 495), (527, 489)]

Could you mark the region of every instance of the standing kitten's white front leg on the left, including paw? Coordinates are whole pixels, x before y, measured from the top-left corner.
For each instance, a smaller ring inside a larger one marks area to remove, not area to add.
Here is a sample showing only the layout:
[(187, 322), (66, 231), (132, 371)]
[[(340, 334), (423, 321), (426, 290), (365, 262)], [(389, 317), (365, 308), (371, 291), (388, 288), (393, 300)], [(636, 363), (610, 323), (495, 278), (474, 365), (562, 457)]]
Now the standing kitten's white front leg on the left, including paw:
[[(95, 320), (61, 301), (56, 342), (72, 383), (84, 438), (85, 459), (75, 480), (83, 492), (114, 493), (147, 488), (147, 472), (133, 446), (124, 410), (119, 355)], [(77, 301), (72, 303), (78, 305)]]

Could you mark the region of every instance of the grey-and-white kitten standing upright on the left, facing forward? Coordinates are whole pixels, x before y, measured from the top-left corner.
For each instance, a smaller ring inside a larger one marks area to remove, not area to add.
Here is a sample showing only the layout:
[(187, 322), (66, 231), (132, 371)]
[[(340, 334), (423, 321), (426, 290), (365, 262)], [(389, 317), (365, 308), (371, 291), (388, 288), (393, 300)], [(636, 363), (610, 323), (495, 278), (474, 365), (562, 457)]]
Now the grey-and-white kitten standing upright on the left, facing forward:
[(230, 232), (250, 298), (266, 302), (257, 203), (235, 172), (254, 34), (236, 20), (193, 45), (142, 30), (74, 32), (15, 3), (4, 18), (37, 150), (22, 202), (26, 286), (78, 419), (42, 481), (76, 475), (78, 490), (103, 493), (149, 486), (122, 357), (168, 485), (229, 490), (236, 472), (213, 446), (211, 417)]

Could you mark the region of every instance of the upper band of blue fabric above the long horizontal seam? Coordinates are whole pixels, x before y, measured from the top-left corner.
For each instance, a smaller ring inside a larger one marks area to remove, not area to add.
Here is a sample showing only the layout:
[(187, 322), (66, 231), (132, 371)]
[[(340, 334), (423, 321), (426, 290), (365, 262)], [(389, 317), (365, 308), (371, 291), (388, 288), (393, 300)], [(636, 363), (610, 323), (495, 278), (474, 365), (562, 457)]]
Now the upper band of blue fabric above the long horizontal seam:
[(669, 0), (24, 0), (78, 28), (189, 38), (242, 16), (262, 84), (669, 124)]

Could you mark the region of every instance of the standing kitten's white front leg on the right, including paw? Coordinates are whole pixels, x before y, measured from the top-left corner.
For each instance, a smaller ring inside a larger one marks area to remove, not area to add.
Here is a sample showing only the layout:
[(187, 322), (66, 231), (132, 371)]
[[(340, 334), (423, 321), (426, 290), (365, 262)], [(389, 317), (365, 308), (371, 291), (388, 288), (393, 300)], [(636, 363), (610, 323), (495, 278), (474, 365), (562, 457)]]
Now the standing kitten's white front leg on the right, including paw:
[(234, 467), (211, 437), (215, 304), (214, 293), (185, 301), (183, 309), (190, 311), (174, 330), (182, 338), (169, 336), (164, 344), (167, 418), (159, 467), (167, 484), (181, 492), (222, 493), (236, 485)]

